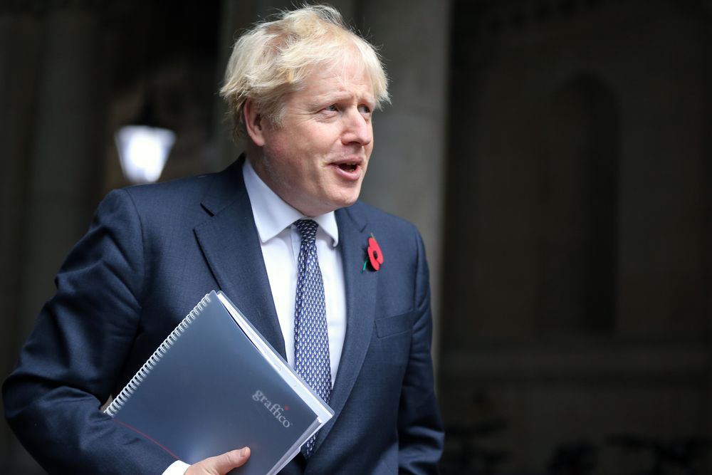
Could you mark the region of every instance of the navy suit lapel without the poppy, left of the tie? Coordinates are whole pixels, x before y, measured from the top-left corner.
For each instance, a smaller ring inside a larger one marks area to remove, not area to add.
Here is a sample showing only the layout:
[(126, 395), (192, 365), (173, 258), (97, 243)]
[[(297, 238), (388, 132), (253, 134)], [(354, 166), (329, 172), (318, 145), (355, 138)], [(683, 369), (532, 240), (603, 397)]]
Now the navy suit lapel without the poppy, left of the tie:
[(239, 160), (216, 176), (201, 205), (212, 216), (194, 229), (218, 285), (286, 360), (284, 339)]

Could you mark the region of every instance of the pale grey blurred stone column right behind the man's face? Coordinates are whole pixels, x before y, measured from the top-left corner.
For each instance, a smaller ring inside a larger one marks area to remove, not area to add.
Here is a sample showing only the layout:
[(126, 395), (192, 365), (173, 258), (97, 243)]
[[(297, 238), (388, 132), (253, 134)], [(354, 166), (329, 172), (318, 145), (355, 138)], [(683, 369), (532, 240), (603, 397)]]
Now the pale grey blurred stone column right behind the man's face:
[(362, 199), (409, 219), (423, 235), (437, 356), (450, 2), (414, 0), (404, 6), (398, 0), (362, 0), (359, 7), (355, 18), (362, 19), (367, 39), (381, 46), (392, 98), (374, 116), (374, 152)]

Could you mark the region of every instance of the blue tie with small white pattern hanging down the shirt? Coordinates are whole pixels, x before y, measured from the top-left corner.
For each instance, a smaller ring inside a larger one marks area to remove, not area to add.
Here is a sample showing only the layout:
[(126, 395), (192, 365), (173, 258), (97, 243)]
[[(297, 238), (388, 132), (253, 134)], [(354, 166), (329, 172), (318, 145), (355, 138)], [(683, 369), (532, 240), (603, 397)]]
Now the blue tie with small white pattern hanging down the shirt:
[[(329, 335), (324, 304), (324, 282), (316, 255), (316, 230), (311, 219), (294, 225), (302, 235), (297, 268), (297, 298), (294, 308), (294, 369), (325, 402), (331, 395)], [(305, 444), (310, 456), (316, 435)]]

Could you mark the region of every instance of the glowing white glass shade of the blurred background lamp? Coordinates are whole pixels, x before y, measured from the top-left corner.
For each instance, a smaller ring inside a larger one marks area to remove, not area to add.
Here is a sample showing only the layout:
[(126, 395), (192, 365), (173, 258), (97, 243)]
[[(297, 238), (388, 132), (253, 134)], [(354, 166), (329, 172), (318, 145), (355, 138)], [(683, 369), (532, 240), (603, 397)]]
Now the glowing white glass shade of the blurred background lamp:
[(176, 135), (161, 127), (126, 125), (114, 138), (124, 176), (132, 183), (150, 183), (161, 177)]

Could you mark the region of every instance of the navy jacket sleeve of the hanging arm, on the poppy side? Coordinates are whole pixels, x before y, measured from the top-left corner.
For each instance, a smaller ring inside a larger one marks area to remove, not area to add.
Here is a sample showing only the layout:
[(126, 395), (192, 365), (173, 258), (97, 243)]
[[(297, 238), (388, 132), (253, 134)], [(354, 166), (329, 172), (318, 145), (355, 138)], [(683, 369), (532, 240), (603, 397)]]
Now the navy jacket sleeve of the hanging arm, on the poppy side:
[(437, 474), (444, 432), (434, 392), (431, 359), (432, 313), (425, 248), (417, 233), (416, 316), (401, 392), (398, 435), (399, 473)]

